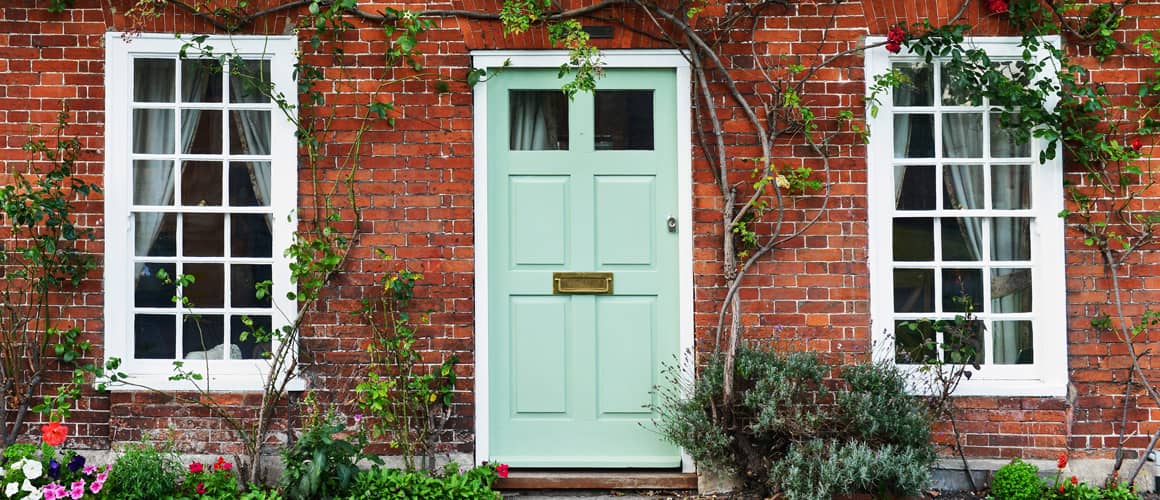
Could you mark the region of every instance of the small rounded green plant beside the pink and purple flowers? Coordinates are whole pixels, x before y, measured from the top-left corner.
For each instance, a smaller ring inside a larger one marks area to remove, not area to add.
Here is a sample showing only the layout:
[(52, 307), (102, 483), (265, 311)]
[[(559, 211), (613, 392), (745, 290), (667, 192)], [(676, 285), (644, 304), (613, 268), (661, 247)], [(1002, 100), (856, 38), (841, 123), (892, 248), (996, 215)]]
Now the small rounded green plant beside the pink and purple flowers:
[(181, 461), (172, 450), (129, 444), (114, 462), (103, 493), (119, 500), (157, 500), (176, 493), (181, 474)]

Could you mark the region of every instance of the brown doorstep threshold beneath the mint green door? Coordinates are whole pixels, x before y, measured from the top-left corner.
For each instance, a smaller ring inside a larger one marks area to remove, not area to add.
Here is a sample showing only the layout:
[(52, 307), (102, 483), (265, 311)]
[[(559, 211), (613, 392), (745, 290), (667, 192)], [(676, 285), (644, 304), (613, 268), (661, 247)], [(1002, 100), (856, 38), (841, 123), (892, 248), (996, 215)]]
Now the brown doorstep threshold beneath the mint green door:
[(696, 490), (695, 472), (633, 470), (513, 470), (496, 490)]

